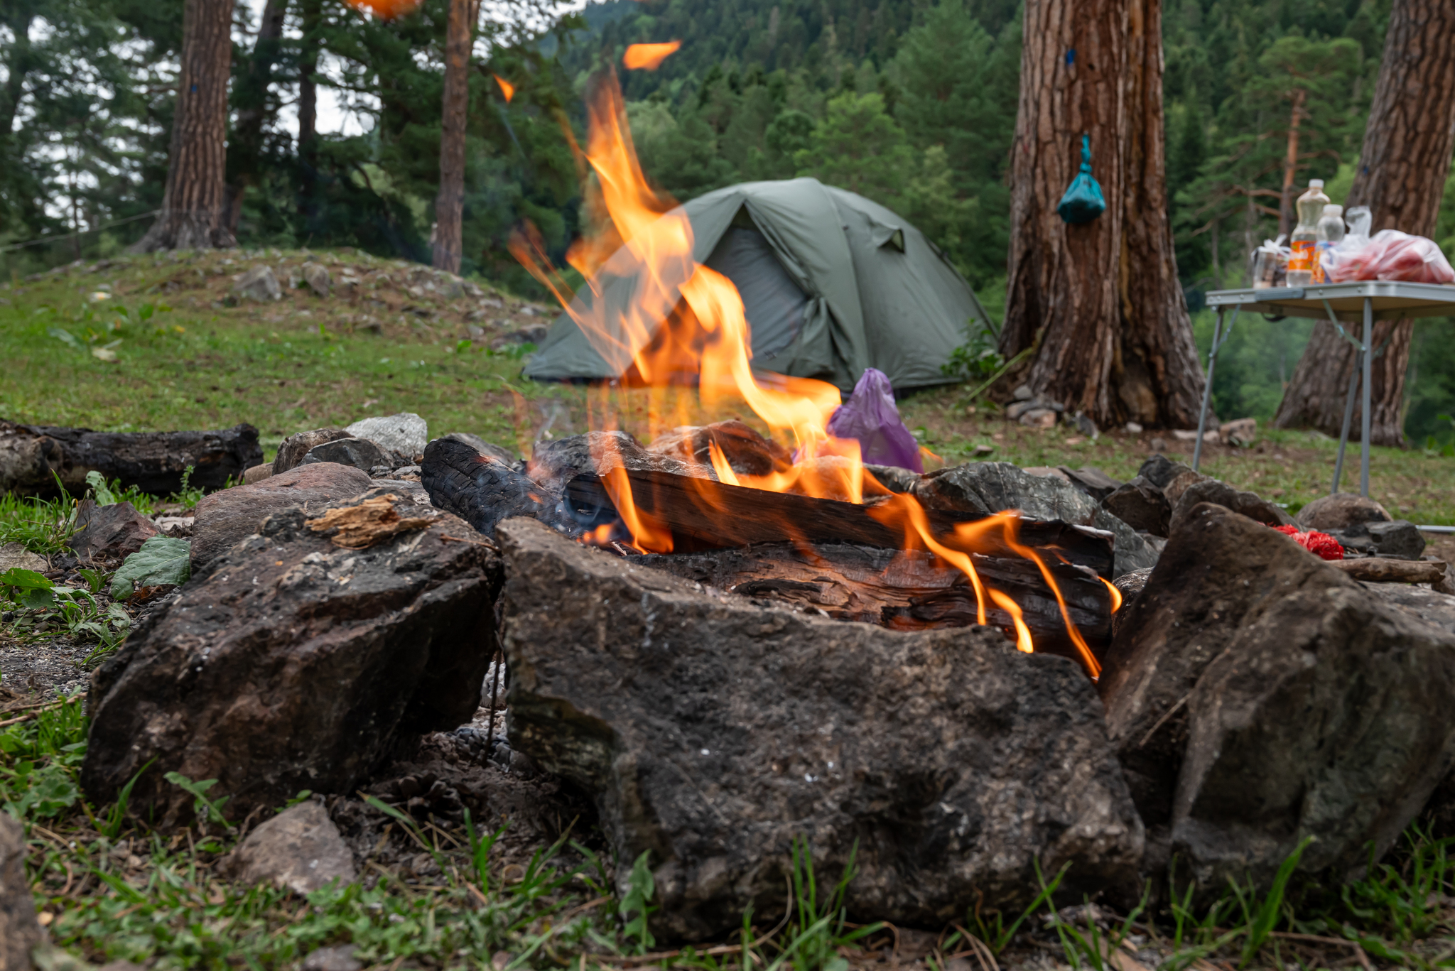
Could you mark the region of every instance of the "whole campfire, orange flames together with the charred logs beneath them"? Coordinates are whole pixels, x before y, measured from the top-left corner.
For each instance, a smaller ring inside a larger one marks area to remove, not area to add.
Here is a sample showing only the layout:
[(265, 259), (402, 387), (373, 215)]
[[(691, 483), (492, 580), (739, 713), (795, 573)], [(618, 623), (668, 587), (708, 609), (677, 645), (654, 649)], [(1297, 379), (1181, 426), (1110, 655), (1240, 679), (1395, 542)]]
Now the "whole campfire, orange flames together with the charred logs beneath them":
[[(677, 396), (677, 421), (652, 409), (647, 428), (633, 431), (646, 432), (649, 453), (687, 459), (679, 470), (633, 469), (621, 454), (631, 440), (592, 437), (595, 470), (565, 488), (563, 507), (581, 542), (646, 556), (672, 572), (706, 569), (729, 590), (837, 617), (892, 627), (992, 625), (1020, 651), (1068, 654), (1097, 677), (1119, 603), (1109, 582), (1109, 537), (1014, 510), (988, 517), (927, 510), (866, 466), (857, 440), (829, 434), (838, 387), (755, 373), (738, 290), (693, 258), (693, 227), (647, 183), (624, 118), (620, 87), (608, 77), (581, 153), (595, 176), (586, 186), (594, 231), (567, 253), (598, 298), (570, 293), (530, 229), (512, 252), (627, 376), (592, 396), (597, 431), (623, 429), (627, 387), (661, 392), (685, 383), (709, 409), (745, 406), (768, 435), (710, 427), (704, 448), (684, 447), (695, 429), (684, 428), (688, 413)], [(608, 307), (598, 281), (626, 274), (637, 277), (634, 300)], [(757, 544), (767, 549), (751, 563), (704, 565), (711, 559), (704, 550)]]

